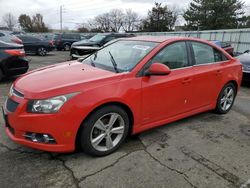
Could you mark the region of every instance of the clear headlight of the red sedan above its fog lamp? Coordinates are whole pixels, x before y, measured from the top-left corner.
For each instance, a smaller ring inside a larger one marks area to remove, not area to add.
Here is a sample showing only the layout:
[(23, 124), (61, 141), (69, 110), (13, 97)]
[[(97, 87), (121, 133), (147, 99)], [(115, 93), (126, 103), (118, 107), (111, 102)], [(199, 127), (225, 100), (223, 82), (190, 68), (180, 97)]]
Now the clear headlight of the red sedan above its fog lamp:
[(28, 103), (27, 111), (30, 113), (56, 113), (60, 110), (65, 102), (77, 93), (61, 95), (44, 100), (31, 100)]

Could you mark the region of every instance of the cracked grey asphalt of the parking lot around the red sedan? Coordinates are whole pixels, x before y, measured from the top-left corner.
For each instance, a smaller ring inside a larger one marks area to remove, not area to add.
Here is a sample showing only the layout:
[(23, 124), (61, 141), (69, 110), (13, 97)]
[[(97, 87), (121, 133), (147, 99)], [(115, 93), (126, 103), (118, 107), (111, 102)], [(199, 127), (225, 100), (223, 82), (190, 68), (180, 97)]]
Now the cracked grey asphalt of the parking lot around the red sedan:
[[(30, 69), (68, 52), (28, 56)], [(0, 83), (4, 104), (15, 78)], [(34, 125), (35, 126), (35, 125)], [(226, 115), (202, 113), (128, 138), (115, 153), (47, 153), (13, 143), (0, 118), (0, 187), (250, 187), (250, 84)]]

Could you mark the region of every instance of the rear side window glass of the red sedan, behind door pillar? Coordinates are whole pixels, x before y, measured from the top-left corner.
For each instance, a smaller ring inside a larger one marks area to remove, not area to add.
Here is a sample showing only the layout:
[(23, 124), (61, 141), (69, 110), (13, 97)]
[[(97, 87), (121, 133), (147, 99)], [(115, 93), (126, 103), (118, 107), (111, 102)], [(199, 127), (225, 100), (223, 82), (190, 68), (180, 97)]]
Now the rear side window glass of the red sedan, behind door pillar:
[(226, 61), (226, 56), (212, 46), (200, 42), (191, 42), (196, 65)]

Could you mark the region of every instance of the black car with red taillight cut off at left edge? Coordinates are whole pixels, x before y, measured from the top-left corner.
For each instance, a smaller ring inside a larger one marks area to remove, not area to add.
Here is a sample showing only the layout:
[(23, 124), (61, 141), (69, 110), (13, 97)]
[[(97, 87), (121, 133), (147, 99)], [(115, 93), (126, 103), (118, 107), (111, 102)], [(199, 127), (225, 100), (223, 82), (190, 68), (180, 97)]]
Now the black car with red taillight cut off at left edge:
[(29, 69), (23, 45), (0, 41), (0, 80), (24, 74)]

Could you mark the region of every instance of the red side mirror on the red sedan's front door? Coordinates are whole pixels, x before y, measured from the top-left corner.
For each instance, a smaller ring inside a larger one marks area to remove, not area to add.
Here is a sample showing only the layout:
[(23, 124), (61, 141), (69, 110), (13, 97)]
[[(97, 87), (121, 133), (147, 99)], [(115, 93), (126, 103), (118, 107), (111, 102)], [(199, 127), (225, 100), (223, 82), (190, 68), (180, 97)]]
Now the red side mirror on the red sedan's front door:
[(153, 63), (149, 69), (145, 71), (146, 76), (164, 76), (171, 73), (170, 68), (162, 63)]

